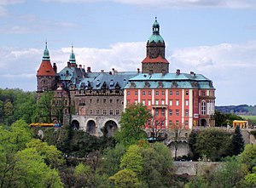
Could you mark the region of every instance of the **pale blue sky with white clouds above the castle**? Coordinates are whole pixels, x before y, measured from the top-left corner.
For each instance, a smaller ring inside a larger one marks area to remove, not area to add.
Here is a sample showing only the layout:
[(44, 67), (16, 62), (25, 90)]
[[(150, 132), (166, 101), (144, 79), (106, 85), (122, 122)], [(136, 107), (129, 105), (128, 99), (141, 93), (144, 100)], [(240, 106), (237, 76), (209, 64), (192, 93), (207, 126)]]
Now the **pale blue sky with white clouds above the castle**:
[(0, 0), (0, 88), (36, 91), (45, 41), (92, 71), (137, 71), (154, 18), (170, 72), (203, 74), (216, 105), (256, 105), (255, 0)]

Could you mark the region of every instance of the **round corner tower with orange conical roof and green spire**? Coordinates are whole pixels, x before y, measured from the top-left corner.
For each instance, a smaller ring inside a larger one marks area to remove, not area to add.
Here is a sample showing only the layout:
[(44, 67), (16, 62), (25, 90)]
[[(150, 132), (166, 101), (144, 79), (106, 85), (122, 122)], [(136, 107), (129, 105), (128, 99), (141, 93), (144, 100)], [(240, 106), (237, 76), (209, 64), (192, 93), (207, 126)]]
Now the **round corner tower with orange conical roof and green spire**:
[(47, 43), (45, 43), (44, 55), (42, 63), (38, 69), (38, 93), (44, 91), (51, 91), (55, 89), (55, 75), (56, 75), (56, 66), (55, 70), (51, 66), (49, 60), (49, 50), (47, 48)]

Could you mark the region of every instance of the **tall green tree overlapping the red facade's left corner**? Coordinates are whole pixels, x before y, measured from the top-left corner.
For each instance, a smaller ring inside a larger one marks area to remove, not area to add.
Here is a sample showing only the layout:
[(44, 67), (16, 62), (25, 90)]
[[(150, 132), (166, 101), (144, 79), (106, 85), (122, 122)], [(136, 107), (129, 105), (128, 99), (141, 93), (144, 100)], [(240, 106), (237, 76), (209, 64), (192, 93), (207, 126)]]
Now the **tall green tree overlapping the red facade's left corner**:
[(136, 144), (137, 140), (145, 139), (143, 126), (151, 117), (147, 106), (143, 104), (129, 105), (121, 116), (120, 131), (115, 135), (116, 140), (124, 145)]

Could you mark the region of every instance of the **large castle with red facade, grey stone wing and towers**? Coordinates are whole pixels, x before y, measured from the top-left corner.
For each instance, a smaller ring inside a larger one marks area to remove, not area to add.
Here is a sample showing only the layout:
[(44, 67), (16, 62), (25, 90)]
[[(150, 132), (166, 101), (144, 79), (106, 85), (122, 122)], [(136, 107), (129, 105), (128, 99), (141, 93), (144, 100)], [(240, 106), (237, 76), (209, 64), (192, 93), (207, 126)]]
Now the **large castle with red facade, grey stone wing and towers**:
[[(96, 136), (111, 136), (119, 128), (122, 111), (132, 103), (142, 103), (152, 113), (145, 125), (167, 133), (175, 126), (214, 126), (215, 88), (201, 74), (169, 72), (165, 41), (155, 19), (152, 35), (147, 41), (147, 54), (142, 71), (85, 71), (78, 66), (75, 54), (67, 66), (57, 72), (50, 63), (47, 43), (38, 69), (38, 95), (55, 91), (55, 105), (63, 106), (63, 120), (73, 128)], [(53, 121), (60, 121), (53, 116)]]

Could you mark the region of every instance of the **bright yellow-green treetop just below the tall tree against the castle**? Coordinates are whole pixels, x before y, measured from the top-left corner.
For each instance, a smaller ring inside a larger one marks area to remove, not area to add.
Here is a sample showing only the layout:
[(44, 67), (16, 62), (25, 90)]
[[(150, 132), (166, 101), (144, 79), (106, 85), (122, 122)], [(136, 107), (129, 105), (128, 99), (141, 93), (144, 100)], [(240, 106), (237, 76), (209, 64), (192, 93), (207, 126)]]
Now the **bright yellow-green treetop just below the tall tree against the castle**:
[(120, 168), (130, 169), (136, 174), (143, 171), (143, 153), (137, 145), (130, 145), (125, 155), (121, 158)]

